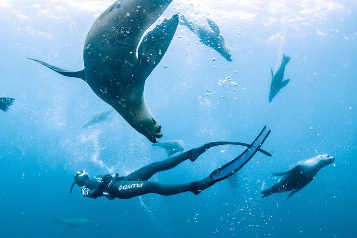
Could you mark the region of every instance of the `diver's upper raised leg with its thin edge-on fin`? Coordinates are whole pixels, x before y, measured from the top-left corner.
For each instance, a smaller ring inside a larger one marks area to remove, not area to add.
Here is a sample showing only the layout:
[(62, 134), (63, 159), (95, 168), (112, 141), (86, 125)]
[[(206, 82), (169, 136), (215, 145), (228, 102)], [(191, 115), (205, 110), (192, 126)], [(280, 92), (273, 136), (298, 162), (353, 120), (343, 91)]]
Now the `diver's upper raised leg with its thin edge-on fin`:
[[(177, 156), (171, 157), (169, 159), (159, 161), (159, 162), (154, 162), (149, 165), (146, 165), (133, 173), (129, 174), (126, 176), (129, 179), (132, 180), (142, 180), (146, 181), (150, 179), (154, 174), (164, 171), (164, 170), (170, 170), (180, 163), (182, 163), (185, 160), (190, 160), (191, 162), (194, 162), (198, 156), (203, 154), (206, 150), (208, 150), (211, 147), (214, 146), (219, 146), (219, 145), (242, 145), (242, 146), (249, 146), (249, 144), (241, 143), (241, 142), (233, 142), (233, 141), (216, 141), (216, 142), (210, 142), (207, 144), (204, 144), (202, 146), (199, 146), (197, 148), (193, 148), (191, 150), (188, 150), (186, 152), (183, 152), (182, 154), (179, 154)], [(270, 153), (258, 149), (260, 152), (271, 156)]]

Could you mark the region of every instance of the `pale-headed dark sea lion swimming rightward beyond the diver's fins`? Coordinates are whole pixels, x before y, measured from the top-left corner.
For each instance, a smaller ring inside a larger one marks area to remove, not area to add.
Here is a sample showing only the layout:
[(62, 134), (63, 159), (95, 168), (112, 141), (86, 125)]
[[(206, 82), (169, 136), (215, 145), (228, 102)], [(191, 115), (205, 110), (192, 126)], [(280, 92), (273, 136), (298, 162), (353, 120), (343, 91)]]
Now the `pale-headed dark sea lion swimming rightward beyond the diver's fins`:
[(294, 193), (306, 186), (315, 178), (317, 172), (321, 168), (329, 165), (335, 161), (335, 157), (329, 155), (318, 155), (309, 160), (303, 161), (293, 169), (284, 173), (275, 173), (273, 176), (284, 176), (277, 183), (269, 189), (262, 191), (262, 198), (269, 196), (276, 192), (284, 192), (293, 190), (289, 196), (284, 200), (288, 200)]

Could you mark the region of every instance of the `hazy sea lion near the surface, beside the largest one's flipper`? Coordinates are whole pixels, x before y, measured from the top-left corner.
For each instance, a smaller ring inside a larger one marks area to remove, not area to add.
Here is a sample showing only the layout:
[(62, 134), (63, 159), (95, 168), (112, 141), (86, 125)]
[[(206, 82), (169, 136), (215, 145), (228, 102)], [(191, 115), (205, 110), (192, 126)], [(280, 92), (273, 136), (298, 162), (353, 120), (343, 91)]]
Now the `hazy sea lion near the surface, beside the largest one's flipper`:
[(230, 49), (227, 47), (226, 41), (221, 35), (221, 31), (217, 24), (211, 19), (207, 18), (207, 22), (210, 26), (200, 26), (194, 22), (189, 22), (183, 15), (179, 16), (182, 21), (180, 24), (187, 26), (198, 38), (200, 42), (206, 46), (209, 46), (221, 54), (226, 60), (232, 61), (232, 55)]

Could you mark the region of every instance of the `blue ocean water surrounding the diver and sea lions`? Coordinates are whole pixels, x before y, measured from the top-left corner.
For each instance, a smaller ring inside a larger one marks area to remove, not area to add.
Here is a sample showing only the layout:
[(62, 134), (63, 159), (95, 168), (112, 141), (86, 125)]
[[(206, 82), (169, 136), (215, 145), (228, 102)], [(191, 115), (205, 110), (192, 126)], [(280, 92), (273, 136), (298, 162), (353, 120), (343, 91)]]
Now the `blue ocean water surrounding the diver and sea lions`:
[[(163, 139), (186, 149), (207, 142), (252, 142), (265, 124), (263, 145), (227, 180), (195, 196), (147, 194), (129, 200), (85, 198), (75, 171), (91, 176), (128, 173), (167, 158), (119, 114), (82, 128), (111, 107), (82, 80), (66, 78), (27, 58), (70, 70), (83, 68), (86, 34), (112, 1), (0, 1), (0, 236), (290, 237), (349, 238), (357, 234), (357, 2), (177, 0), (164, 16), (214, 20), (231, 48), (228, 62), (179, 25), (163, 60), (145, 84), (147, 104)], [(270, 68), (282, 55), (290, 83), (268, 103)], [(212, 148), (151, 180), (182, 183), (204, 178), (244, 148)], [(284, 202), (289, 192), (260, 192), (299, 161), (336, 157)], [(93, 223), (70, 228), (56, 219)]]

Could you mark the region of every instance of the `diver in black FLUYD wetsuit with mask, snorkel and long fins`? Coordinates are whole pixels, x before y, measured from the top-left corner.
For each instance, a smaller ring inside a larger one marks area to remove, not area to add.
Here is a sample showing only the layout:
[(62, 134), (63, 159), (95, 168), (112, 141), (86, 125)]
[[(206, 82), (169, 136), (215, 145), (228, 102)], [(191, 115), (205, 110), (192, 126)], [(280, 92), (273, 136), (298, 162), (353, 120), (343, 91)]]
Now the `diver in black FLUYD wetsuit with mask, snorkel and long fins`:
[[(257, 151), (271, 156), (270, 153), (260, 149), (260, 146), (264, 143), (269, 133), (270, 129), (265, 126), (258, 137), (250, 145), (230, 141), (207, 143), (200, 147), (186, 151), (178, 156), (144, 166), (125, 177), (119, 177), (118, 174), (116, 174), (105, 175), (103, 177), (97, 176), (93, 179), (89, 179), (88, 174), (84, 170), (81, 170), (75, 174), (74, 182), (69, 192), (71, 193), (74, 184), (77, 184), (82, 187), (82, 194), (85, 197), (97, 198), (100, 196), (106, 196), (110, 200), (116, 197), (120, 199), (128, 199), (147, 193), (174, 195), (181, 192), (190, 191), (197, 195), (202, 190), (212, 186), (216, 182), (219, 182), (235, 174), (253, 157)], [(229, 144), (245, 145), (248, 146), (248, 148), (236, 159), (213, 171), (205, 179), (181, 184), (162, 184), (148, 181), (148, 179), (150, 179), (154, 174), (160, 171), (172, 169), (187, 159), (189, 159), (191, 162), (194, 162), (199, 155), (213, 146)]]

